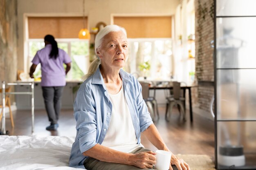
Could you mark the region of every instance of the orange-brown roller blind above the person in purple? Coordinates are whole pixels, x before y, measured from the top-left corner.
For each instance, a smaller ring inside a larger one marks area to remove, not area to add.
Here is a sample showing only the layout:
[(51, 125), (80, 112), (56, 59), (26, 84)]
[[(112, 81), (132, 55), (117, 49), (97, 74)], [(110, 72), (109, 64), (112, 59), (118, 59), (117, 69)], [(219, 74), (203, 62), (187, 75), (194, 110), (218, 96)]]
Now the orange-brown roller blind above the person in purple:
[(28, 17), (29, 38), (78, 38), (83, 24), (87, 28), (87, 17)]

